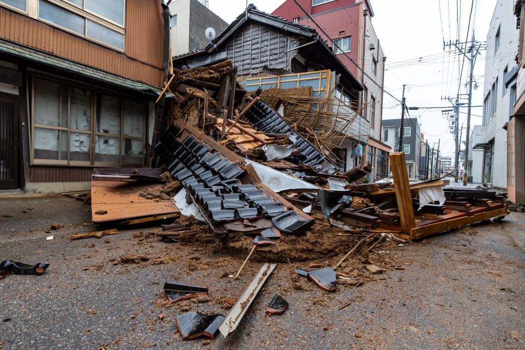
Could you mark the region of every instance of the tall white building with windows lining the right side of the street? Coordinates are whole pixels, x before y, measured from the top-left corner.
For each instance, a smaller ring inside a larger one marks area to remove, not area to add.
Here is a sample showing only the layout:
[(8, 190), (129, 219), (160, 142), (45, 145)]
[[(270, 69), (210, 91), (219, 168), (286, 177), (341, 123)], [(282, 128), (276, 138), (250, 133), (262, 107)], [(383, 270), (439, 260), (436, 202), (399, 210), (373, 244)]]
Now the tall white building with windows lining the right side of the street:
[[(507, 188), (507, 124), (516, 101), (516, 56), (519, 30), (509, 20), (513, 1), (498, 0), (487, 34), (481, 137), (474, 149), (484, 151), (484, 183)], [(521, 170), (523, 171), (523, 170)]]

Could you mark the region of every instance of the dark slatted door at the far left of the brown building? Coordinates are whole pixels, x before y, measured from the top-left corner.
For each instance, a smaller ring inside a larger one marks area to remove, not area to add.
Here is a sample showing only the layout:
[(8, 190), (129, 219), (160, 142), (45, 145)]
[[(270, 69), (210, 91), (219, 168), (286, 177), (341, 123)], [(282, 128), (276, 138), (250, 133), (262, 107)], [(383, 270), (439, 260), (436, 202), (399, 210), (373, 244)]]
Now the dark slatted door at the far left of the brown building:
[(18, 102), (0, 96), (0, 189), (18, 188)]

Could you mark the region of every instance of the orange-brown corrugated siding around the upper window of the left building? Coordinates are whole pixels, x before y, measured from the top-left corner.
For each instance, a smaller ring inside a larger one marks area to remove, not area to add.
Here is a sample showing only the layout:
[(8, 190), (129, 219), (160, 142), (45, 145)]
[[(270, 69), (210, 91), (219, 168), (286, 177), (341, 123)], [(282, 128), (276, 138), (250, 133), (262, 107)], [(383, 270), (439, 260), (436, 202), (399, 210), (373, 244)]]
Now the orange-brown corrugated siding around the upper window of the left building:
[[(161, 86), (163, 35), (158, 34), (162, 27), (160, 2), (128, 0), (128, 3), (125, 45), (130, 57), (6, 8), (0, 8), (0, 37), (127, 78)], [(133, 6), (138, 9), (135, 10)], [(144, 12), (144, 8), (149, 8), (149, 12)], [(158, 14), (155, 13), (156, 10), (159, 11)], [(148, 33), (152, 28), (156, 30)]]

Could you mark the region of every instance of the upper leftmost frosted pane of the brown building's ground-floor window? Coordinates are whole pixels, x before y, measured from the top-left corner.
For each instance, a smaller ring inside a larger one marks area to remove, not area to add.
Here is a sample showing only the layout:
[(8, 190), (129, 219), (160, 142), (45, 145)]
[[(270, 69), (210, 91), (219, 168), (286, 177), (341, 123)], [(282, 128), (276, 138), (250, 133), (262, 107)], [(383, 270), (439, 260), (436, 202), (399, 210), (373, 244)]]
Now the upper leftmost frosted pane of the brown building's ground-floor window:
[(67, 128), (66, 116), (67, 110), (60, 113), (60, 83), (35, 78), (35, 123)]

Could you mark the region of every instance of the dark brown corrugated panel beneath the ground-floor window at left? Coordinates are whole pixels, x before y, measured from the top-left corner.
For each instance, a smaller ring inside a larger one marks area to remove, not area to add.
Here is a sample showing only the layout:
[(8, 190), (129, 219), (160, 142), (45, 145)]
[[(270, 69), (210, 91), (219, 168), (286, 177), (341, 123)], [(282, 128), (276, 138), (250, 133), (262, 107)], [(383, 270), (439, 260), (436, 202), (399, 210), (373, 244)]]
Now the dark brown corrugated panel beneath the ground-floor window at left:
[(34, 165), (29, 173), (29, 182), (90, 182), (93, 168)]

